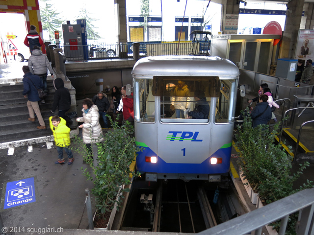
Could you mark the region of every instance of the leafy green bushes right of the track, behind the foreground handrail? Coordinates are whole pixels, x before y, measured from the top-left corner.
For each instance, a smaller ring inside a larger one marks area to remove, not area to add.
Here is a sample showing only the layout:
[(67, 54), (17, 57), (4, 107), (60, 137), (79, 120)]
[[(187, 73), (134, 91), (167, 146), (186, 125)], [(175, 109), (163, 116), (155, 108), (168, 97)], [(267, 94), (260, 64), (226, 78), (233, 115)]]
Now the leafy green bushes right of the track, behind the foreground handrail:
[[(293, 188), (293, 183), (309, 163), (300, 164), (299, 170), (291, 174), (293, 157), (288, 155), (280, 144), (275, 143), (275, 136), (278, 134), (279, 124), (275, 124), (274, 129), (269, 133), (268, 125), (253, 128), (251, 117), (246, 116), (236, 136), (236, 146), (241, 152), (238, 160), (241, 174), (248, 180), (253, 190), (259, 193), (260, 199), (265, 204), (313, 187), (313, 182), (307, 181), (303, 187)], [(295, 234), (296, 222), (297, 214), (293, 214), (289, 218), (286, 234)], [(271, 226), (279, 231), (280, 222), (273, 223)]]

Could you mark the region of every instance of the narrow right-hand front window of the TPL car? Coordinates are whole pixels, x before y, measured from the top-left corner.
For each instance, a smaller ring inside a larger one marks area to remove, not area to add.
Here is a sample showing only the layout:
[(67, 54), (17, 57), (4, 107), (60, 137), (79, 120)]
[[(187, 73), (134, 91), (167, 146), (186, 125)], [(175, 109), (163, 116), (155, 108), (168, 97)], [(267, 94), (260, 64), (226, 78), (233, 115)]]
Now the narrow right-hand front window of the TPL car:
[(234, 121), (235, 113), (235, 80), (221, 80), (220, 96), (216, 100), (215, 122), (229, 123)]

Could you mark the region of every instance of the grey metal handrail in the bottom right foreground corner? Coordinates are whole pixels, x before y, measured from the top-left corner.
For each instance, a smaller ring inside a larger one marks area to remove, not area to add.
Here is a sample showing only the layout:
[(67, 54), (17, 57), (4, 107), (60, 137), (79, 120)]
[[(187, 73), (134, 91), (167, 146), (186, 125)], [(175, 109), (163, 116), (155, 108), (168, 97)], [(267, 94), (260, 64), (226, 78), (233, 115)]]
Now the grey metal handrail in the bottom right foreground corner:
[(255, 231), (255, 235), (261, 235), (263, 226), (281, 220), (279, 235), (284, 235), (289, 215), (299, 211), (296, 234), (312, 235), (314, 233), (313, 194), (314, 188), (299, 191), (258, 210), (243, 214), (198, 234), (246, 235)]

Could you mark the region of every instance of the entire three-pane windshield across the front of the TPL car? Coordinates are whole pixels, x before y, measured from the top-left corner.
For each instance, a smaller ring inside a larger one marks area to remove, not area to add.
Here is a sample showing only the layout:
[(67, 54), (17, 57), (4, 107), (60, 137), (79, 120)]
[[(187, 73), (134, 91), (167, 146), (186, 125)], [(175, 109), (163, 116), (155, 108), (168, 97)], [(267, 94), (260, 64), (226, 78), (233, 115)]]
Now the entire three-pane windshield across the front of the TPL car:
[[(209, 123), (214, 105), (215, 123), (232, 122), (235, 81), (217, 76), (135, 79), (134, 119), (152, 123), (158, 115), (161, 122)], [(155, 98), (160, 104), (156, 110)]]

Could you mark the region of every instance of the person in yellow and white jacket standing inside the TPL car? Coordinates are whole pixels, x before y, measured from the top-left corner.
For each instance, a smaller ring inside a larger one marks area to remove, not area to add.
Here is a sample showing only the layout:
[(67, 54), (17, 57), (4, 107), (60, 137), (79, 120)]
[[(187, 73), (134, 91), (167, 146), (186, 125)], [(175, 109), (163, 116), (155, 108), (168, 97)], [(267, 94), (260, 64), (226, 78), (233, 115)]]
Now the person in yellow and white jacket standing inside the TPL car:
[(191, 106), (189, 102), (191, 101), (191, 97), (189, 97), (190, 90), (187, 88), (185, 82), (178, 81), (178, 86), (174, 88), (173, 95), (171, 97), (170, 109), (176, 109), (176, 118), (180, 118), (180, 115), (184, 118), (184, 111), (186, 112)]

